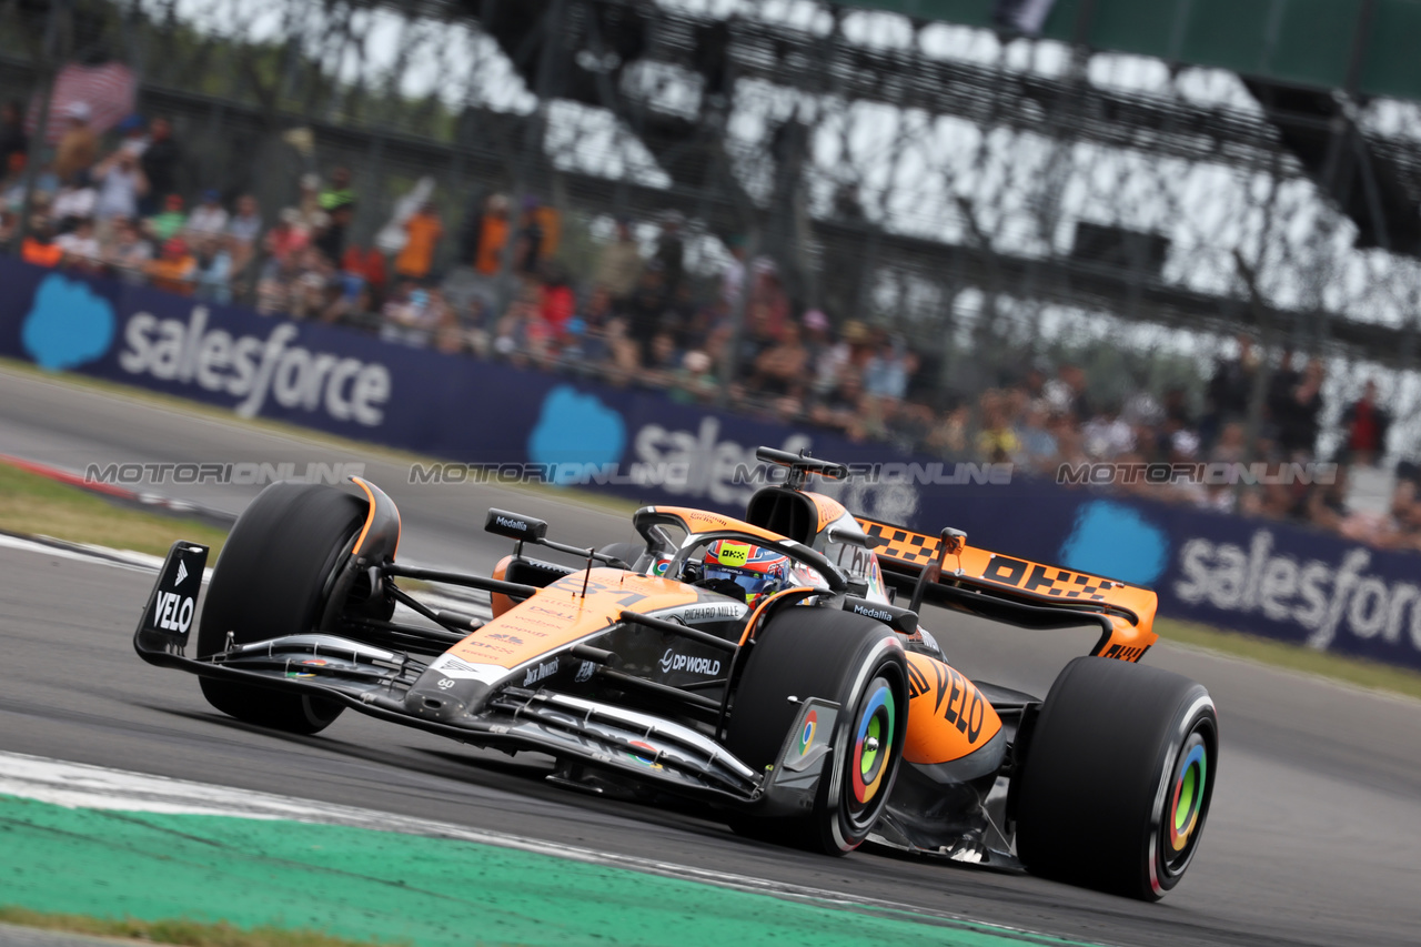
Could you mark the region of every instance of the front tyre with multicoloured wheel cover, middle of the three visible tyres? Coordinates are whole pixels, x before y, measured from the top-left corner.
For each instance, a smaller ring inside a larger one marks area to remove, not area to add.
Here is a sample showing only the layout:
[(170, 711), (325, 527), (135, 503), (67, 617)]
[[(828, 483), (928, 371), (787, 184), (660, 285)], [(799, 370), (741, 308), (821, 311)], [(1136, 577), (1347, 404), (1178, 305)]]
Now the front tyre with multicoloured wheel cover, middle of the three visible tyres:
[[(790, 698), (796, 702), (790, 702)], [(827, 609), (790, 607), (756, 634), (735, 691), (726, 748), (752, 769), (774, 765), (809, 697), (841, 711), (809, 815), (739, 815), (752, 838), (843, 855), (878, 822), (902, 762), (908, 732), (908, 664), (887, 626)]]

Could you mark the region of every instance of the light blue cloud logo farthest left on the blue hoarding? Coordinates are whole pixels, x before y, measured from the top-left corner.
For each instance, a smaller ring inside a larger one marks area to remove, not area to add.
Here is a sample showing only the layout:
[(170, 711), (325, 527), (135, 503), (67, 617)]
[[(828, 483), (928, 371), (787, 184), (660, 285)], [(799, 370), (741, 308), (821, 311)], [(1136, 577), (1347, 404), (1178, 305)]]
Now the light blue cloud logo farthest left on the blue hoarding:
[(40, 368), (77, 368), (108, 353), (115, 321), (107, 299), (84, 283), (53, 273), (34, 293), (20, 343)]

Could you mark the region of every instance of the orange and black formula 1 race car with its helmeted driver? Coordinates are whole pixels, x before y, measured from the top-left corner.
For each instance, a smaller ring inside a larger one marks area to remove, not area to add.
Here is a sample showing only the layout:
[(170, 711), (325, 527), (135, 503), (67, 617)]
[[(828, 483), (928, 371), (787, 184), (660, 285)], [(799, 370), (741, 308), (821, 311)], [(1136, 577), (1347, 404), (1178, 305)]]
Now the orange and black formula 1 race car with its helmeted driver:
[[(787, 468), (743, 520), (645, 506), (639, 543), (577, 549), (530, 516), (492, 576), (395, 559), (377, 486), (274, 483), (242, 513), (189, 641), (207, 549), (175, 543), (134, 644), (217, 710), (314, 734), (342, 710), (556, 759), (553, 782), (699, 799), (739, 833), (827, 853), (872, 842), (1141, 899), (1184, 876), (1218, 772), (1204, 687), (1140, 665), (1152, 592), (855, 519)], [(574, 567), (531, 546), (576, 555)], [(401, 579), (489, 593), (435, 610)], [(402, 603), (426, 623), (395, 621)], [(1094, 626), (1046, 700), (972, 681), (924, 604), (1033, 628)]]

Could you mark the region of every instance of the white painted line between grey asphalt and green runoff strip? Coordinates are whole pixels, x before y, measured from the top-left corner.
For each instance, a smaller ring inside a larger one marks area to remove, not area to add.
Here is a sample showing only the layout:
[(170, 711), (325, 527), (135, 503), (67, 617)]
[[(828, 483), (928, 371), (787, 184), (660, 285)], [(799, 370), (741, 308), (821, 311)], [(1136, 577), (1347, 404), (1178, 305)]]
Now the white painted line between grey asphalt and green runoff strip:
[(87, 764), (63, 762), (44, 756), (0, 752), (0, 795), (36, 799), (65, 808), (102, 809), (121, 812), (153, 812), (165, 815), (232, 816), (242, 819), (287, 819), (318, 825), (341, 825), (379, 832), (399, 832), (439, 839), (475, 842), (504, 849), (517, 849), (536, 855), (547, 855), (587, 865), (645, 872), (686, 882), (702, 882), (737, 892), (772, 894), (797, 901), (831, 907), (890, 910), (918, 914), (926, 919), (952, 921), (956, 926), (971, 926), (1003, 937), (1030, 937), (1060, 940), (1053, 934), (1042, 934), (1019, 927), (990, 924), (949, 911), (939, 911), (901, 901), (860, 897), (843, 892), (830, 892), (803, 884), (773, 882), (769, 879), (699, 869), (689, 865), (661, 862), (632, 855), (597, 852), (558, 842), (544, 842), (526, 836), (506, 835), (470, 829), (452, 822), (433, 822), (374, 809), (341, 806), (311, 799), (297, 799), (267, 792), (230, 789), (226, 786), (151, 776), (145, 774), (91, 766)]

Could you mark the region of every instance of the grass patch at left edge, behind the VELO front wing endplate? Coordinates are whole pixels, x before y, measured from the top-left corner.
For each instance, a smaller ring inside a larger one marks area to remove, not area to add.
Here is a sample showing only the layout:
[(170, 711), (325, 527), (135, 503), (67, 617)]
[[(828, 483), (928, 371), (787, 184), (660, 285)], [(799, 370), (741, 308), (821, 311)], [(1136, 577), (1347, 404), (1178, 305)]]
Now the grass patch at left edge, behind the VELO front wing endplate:
[(168, 555), (178, 539), (212, 547), (216, 562), (227, 533), (193, 519), (119, 506), (78, 486), (0, 464), (0, 529)]

